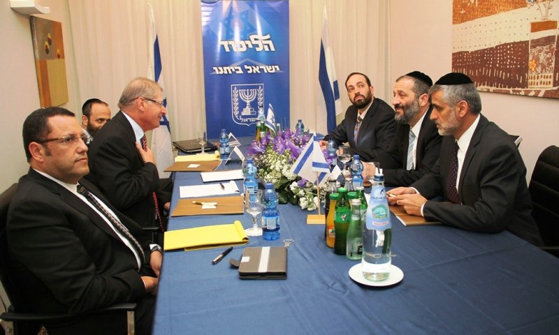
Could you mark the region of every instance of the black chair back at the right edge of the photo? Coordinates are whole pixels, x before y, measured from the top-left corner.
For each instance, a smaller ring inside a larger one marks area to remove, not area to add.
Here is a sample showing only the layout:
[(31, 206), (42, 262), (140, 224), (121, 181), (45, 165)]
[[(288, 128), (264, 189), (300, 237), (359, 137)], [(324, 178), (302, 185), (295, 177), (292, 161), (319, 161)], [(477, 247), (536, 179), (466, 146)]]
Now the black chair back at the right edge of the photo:
[(542, 248), (559, 257), (559, 147), (552, 145), (542, 151), (528, 188)]

